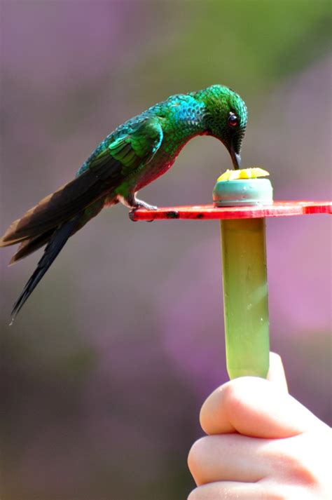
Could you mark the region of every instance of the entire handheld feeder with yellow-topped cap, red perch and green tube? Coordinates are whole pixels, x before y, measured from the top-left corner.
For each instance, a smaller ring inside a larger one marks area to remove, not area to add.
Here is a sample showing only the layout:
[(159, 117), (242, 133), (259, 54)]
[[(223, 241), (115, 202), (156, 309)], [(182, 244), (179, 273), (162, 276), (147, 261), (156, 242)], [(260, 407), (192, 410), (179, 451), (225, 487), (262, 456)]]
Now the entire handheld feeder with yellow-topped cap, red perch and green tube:
[(219, 219), (226, 364), (230, 379), (265, 378), (269, 368), (265, 219), (332, 213), (332, 201), (273, 201), (265, 170), (228, 170), (216, 182), (213, 205), (139, 209), (132, 220)]

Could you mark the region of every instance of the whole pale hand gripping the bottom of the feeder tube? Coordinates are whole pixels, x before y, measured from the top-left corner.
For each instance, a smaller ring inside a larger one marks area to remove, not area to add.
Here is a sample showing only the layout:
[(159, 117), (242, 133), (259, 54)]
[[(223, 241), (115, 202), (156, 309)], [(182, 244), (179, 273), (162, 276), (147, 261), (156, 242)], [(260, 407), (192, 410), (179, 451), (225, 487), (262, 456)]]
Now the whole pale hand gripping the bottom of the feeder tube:
[(188, 466), (198, 486), (188, 500), (331, 500), (331, 428), (287, 391), (270, 354), (268, 380), (241, 377), (202, 405), (207, 434)]

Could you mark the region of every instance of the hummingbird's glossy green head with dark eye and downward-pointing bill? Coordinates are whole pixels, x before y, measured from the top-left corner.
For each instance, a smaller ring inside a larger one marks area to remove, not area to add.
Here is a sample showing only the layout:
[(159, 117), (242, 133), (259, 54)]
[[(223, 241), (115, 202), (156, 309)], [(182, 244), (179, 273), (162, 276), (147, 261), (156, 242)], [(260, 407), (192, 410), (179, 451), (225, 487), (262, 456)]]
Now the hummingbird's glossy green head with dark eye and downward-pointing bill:
[(221, 140), (228, 149), (234, 168), (240, 168), (240, 150), (247, 127), (247, 107), (240, 95), (222, 85), (213, 85), (195, 95), (205, 104), (207, 135)]

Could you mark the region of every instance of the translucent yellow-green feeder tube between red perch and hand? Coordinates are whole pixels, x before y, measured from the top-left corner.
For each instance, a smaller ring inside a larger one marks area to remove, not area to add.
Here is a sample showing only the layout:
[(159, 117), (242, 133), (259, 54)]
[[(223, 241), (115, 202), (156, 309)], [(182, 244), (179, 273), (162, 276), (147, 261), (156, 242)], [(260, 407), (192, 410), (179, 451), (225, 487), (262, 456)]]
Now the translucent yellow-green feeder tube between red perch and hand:
[(226, 362), (230, 379), (269, 367), (265, 219), (221, 220)]

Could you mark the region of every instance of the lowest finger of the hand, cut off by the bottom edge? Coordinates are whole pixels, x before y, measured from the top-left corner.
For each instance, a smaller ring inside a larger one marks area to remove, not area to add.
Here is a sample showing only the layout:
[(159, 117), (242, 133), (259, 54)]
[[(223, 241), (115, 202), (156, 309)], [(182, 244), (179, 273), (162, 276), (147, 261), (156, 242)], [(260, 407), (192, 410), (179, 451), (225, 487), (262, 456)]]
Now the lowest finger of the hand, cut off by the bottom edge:
[[(280, 492), (279, 492), (280, 493)], [(194, 489), (188, 500), (275, 500), (284, 498), (271, 487), (245, 482), (213, 482)], [(289, 497), (290, 498), (290, 497)]]

